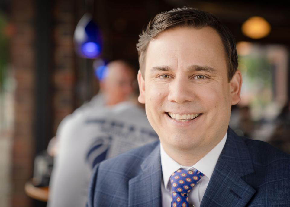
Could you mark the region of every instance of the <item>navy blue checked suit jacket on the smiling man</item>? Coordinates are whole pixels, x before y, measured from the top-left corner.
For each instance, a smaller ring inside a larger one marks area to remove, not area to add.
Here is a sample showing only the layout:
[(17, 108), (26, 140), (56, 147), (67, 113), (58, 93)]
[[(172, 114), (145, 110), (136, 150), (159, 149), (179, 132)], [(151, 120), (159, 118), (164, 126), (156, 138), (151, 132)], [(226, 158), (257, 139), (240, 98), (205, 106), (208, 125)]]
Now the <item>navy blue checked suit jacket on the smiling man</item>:
[[(131, 150), (95, 167), (88, 207), (161, 207), (159, 142)], [(201, 207), (290, 206), (290, 156), (230, 128)]]

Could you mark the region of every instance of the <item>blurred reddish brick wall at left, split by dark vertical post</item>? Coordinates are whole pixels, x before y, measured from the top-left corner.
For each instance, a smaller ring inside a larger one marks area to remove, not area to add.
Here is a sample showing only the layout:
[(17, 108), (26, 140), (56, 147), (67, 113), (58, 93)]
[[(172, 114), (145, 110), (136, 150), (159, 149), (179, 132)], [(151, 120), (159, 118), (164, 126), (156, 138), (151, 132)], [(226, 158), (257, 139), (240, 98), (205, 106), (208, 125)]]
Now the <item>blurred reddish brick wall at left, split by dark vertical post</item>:
[[(15, 90), (15, 123), (11, 165), (11, 207), (30, 207), (35, 204), (24, 192), (24, 185), (33, 176), (35, 148), (35, 77), (36, 5), (33, 0), (13, 0), (11, 20), (15, 34), (11, 38), (11, 64), (17, 86)], [(52, 78), (52, 134), (60, 121), (75, 108), (75, 55), (73, 32), (75, 28), (73, 1), (53, 2)], [(48, 140), (44, 140), (46, 142)], [(41, 149), (42, 150), (42, 149)]]

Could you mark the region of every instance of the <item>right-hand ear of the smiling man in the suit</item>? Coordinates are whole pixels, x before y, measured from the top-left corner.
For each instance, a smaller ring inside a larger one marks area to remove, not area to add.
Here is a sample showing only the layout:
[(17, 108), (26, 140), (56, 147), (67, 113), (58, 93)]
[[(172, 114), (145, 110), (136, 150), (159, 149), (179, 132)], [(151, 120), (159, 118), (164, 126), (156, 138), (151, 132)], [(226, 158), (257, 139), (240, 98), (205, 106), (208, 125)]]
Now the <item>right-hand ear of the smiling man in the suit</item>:
[(237, 70), (234, 76), (232, 77), (232, 80), (230, 81), (232, 105), (236, 105), (241, 100), (240, 93), (242, 82), (243, 82), (242, 74), (239, 70)]

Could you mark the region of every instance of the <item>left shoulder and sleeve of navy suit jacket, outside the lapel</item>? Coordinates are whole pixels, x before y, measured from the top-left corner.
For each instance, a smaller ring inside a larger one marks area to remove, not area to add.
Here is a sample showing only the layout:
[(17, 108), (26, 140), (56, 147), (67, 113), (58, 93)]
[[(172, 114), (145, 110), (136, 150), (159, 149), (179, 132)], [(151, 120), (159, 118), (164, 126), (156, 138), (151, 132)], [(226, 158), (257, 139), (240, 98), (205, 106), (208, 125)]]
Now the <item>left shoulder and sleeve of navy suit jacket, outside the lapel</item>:
[[(141, 174), (142, 164), (158, 147), (159, 141), (132, 149), (96, 165), (89, 184), (88, 206), (107, 206), (108, 202), (127, 206), (129, 180)], [(117, 188), (115, 183), (118, 183)]]

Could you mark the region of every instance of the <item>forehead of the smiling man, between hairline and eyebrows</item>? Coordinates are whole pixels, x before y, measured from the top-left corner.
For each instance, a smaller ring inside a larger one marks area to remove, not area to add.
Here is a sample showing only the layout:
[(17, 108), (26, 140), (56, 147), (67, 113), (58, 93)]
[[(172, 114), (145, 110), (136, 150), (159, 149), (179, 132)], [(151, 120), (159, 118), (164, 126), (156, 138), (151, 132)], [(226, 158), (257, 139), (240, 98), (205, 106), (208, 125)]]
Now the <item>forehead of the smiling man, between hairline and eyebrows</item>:
[(146, 68), (184, 64), (184, 68), (192, 66), (196, 70), (197, 66), (209, 69), (216, 68), (216, 64), (226, 65), (226, 56), (221, 38), (213, 28), (178, 27), (150, 41), (145, 62)]

